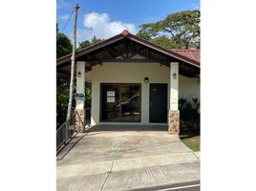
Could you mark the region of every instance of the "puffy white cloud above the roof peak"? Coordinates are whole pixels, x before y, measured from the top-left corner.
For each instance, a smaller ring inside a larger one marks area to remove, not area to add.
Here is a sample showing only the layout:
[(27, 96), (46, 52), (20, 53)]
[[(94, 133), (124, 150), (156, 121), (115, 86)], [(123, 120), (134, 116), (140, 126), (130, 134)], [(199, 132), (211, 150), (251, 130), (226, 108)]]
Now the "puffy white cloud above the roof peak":
[(112, 21), (107, 13), (87, 13), (84, 16), (83, 24), (86, 29), (77, 30), (77, 42), (91, 40), (94, 35), (96, 35), (97, 38), (106, 39), (123, 30), (134, 34), (138, 32), (134, 24)]

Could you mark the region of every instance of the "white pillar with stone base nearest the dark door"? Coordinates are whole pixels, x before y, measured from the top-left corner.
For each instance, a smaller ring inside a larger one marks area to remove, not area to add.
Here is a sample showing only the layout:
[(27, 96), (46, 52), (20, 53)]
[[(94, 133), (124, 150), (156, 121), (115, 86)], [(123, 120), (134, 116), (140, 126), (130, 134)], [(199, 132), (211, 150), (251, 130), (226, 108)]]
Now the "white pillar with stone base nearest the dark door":
[(168, 113), (168, 126), (170, 134), (179, 135), (179, 62), (170, 63), (170, 108)]

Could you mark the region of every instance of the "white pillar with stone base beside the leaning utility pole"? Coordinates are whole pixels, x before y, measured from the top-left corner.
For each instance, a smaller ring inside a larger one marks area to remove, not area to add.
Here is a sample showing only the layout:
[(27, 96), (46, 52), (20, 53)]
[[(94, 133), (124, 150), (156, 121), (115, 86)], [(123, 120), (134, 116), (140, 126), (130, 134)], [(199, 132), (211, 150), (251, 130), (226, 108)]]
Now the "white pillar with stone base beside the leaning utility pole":
[(85, 86), (85, 62), (76, 62), (76, 96), (75, 96), (75, 130), (84, 132), (84, 86)]

